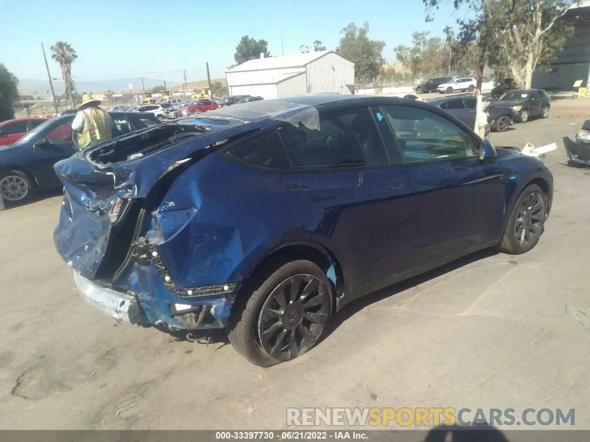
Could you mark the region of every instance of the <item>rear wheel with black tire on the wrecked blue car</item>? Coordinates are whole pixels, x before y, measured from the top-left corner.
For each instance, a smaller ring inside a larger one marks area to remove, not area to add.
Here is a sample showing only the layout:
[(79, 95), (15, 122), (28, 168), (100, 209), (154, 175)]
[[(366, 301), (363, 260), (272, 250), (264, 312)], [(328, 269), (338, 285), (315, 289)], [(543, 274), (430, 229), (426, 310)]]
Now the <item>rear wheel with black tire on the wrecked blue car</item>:
[[(317, 287), (305, 295), (307, 280), (312, 283), (310, 286)], [(290, 294), (287, 299), (284, 293), (291, 293), (293, 287), (299, 287), (295, 299), (290, 299)], [(279, 302), (281, 293), (283, 305)], [(244, 292), (238, 293), (230, 315), (228, 338), (238, 353), (254, 365), (270, 367), (289, 361), (316, 344), (330, 319), (333, 299), (332, 283), (313, 262), (298, 259), (277, 263), (247, 282)], [(305, 306), (312, 302), (315, 304)], [(318, 322), (307, 319), (309, 315)]]

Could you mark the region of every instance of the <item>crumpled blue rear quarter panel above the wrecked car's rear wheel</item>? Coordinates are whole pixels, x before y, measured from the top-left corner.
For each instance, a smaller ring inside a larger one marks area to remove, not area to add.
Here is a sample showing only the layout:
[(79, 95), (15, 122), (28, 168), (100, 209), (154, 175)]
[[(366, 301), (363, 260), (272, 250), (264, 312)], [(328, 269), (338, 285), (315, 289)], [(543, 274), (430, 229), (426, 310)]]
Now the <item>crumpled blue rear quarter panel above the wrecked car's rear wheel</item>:
[(158, 246), (176, 284), (239, 282), (278, 242), (307, 239), (289, 190), (278, 173), (250, 170), (213, 154), (170, 187), (166, 210), (196, 209), (189, 223)]

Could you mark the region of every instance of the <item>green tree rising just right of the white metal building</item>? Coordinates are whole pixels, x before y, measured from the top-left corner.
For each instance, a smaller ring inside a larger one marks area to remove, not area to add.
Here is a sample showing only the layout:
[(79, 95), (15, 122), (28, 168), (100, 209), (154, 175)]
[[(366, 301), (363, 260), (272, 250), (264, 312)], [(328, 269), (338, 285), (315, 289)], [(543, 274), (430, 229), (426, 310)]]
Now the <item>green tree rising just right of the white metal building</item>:
[(385, 42), (369, 39), (368, 33), (369, 22), (360, 28), (350, 23), (340, 31), (342, 37), (336, 54), (355, 64), (355, 78), (376, 81), (385, 63), (382, 55)]

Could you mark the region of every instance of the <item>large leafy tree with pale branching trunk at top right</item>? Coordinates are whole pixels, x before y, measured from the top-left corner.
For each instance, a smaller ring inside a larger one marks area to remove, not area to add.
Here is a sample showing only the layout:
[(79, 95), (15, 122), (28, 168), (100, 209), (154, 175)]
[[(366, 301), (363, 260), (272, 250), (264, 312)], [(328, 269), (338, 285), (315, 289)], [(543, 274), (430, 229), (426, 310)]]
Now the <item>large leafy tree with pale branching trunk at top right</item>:
[[(422, 0), (429, 11), (442, 0)], [(518, 87), (530, 88), (533, 71), (547, 66), (572, 35), (562, 19), (578, 0), (454, 0), (455, 9), (469, 3), (470, 16), (458, 21), (464, 44), (476, 44), (480, 63), (509, 71)], [(427, 21), (431, 14), (427, 15)], [(471, 41), (467, 41), (471, 38)]]

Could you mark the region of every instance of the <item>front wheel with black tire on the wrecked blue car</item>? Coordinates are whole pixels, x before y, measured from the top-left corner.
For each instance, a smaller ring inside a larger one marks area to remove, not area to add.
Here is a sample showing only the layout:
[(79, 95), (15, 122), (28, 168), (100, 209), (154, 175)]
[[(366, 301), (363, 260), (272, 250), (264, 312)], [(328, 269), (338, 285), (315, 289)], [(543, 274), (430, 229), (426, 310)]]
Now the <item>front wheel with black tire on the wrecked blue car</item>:
[[(499, 246), (500, 251), (510, 255), (520, 255), (535, 247), (545, 229), (546, 209), (547, 198), (543, 190), (537, 184), (527, 186), (512, 207)], [(525, 228), (520, 229), (522, 226)]]

